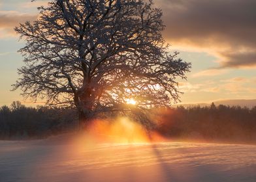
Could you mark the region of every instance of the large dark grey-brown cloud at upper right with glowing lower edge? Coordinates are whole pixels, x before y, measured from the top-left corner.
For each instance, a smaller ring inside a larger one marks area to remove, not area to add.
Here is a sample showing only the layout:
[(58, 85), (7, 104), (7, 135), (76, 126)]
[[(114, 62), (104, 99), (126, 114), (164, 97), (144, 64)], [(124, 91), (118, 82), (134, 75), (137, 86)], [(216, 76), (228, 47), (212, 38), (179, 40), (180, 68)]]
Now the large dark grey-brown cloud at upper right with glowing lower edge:
[(256, 66), (255, 0), (159, 0), (175, 47), (216, 55), (221, 68)]

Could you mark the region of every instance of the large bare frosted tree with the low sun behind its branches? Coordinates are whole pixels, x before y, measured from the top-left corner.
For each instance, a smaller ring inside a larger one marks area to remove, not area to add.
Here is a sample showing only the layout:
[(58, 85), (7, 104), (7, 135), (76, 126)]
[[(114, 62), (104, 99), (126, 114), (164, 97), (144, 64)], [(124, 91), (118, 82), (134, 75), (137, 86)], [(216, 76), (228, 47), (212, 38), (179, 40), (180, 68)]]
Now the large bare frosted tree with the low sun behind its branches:
[(52, 0), (37, 21), (15, 31), (27, 44), (18, 70), (29, 98), (76, 107), (80, 120), (100, 112), (150, 109), (177, 101), (177, 77), (191, 65), (168, 53), (162, 11), (143, 0)]

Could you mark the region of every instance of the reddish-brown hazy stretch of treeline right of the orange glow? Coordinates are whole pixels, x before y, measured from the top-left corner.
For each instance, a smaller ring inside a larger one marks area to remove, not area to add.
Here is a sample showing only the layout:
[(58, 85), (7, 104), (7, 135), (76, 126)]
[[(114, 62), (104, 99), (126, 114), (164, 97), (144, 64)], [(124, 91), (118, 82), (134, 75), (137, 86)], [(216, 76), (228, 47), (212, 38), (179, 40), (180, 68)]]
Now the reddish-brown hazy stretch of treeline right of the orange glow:
[(157, 131), (170, 138), (256, 143), (256, 107), (177, 107), (159, 113)]

